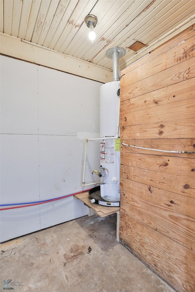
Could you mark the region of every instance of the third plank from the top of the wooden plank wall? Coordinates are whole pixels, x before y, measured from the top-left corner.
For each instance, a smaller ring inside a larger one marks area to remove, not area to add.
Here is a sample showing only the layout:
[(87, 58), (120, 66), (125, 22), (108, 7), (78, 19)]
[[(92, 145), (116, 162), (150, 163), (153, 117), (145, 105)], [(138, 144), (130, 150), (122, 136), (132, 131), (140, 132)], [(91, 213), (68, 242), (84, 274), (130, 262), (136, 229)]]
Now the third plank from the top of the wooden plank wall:
[[(121, 101), (167, 87), (195, 77), (195, 57), (136, 82), (129, 88), (128, 80), (121, 79)], [(123, 97), (125, 93), (125, 96)]]

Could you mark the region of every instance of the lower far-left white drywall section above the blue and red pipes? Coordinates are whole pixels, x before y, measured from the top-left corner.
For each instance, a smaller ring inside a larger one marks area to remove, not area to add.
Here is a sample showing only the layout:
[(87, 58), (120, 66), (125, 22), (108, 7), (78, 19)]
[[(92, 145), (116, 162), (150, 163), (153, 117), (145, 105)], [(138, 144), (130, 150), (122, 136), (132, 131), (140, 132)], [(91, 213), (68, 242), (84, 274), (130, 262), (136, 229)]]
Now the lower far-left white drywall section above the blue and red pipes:
[(38, 135), (1, 134), (1, 204), (39, 200)]

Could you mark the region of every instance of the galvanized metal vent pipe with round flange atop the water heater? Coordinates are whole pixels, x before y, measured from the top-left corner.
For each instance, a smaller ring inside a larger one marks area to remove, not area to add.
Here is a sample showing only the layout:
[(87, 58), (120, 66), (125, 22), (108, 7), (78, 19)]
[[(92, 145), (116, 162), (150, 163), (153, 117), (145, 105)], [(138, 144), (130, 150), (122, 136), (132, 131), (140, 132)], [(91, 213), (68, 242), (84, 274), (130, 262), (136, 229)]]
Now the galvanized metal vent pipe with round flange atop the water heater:
[(121, 47), (110, 48), (106, 51), (106, 57), (112, 59), (112, 81), (120, 80), (119, 58), (123, 57), (126, 50)]

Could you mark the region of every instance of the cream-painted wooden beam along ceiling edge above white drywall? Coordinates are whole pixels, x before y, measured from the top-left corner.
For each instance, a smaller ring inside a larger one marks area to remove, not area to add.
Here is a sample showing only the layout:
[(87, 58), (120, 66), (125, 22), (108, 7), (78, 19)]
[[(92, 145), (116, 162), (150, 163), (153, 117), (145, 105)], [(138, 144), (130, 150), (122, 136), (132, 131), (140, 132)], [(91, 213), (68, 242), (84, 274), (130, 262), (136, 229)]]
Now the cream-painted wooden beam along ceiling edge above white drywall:
[(65, 54), (59, 54), (47, 48), (37, 47), (5, 33), (0, 34), (0, 39), (0, 53), (3, 55), (102, 83), (112, 81), (112, 70), (110, 69)]

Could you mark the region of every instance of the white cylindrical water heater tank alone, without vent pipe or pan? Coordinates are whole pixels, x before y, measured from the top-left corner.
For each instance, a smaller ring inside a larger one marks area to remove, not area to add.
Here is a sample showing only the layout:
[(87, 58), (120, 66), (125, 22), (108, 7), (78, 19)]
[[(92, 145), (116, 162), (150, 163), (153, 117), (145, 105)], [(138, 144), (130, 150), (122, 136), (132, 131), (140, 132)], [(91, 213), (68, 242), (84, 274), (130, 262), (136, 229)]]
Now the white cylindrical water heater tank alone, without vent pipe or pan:
[(119, 113), (119, 89), (119, 81), (100, 87), (100, 193), (107, 201), (120, 201), (120, 138), (114, 138)]

